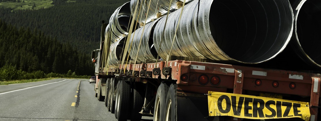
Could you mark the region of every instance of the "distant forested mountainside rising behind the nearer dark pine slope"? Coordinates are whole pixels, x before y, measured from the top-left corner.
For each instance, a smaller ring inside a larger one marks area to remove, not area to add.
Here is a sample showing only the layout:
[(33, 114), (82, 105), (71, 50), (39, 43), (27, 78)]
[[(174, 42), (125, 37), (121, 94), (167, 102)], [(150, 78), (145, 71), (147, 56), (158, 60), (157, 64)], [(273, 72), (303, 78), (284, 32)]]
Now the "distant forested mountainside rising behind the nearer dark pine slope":
[(58, 41), (72, 45), (78, 52), (89, 55), (99, 47), (101, 20), (108, 22), (111, 14), (126, 2), (56, 0), (52, 7), (23, 11), (0, 7), (0, 19), (16, 27), (41, 30), (45, 35), (56, 37)]

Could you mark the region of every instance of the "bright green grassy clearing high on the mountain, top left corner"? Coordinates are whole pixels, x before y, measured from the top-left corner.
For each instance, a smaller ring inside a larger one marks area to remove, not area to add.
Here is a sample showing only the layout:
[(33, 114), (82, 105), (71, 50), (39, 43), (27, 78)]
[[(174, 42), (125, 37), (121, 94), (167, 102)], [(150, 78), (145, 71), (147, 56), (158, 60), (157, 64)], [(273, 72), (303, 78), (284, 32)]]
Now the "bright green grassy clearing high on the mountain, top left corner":
[(37, 10), (40, 8), (48, 8), (53, 6), (52, 0), (25, 0), (24, 3), (20, 2), (0, 2), (0, 7), (4, 8), (12, 8), (13, 10), (32, 10), (33, 4), (36, 7), (33, 10)]

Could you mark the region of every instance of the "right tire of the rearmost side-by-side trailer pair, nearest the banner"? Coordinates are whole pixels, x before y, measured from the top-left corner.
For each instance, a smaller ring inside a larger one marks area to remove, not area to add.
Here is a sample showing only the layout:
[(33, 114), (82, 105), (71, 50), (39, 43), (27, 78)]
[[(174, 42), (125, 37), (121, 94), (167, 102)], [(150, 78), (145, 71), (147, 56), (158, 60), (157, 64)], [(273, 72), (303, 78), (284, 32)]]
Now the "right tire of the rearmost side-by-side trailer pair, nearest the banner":
[(165, 121), (176, 121), (176, 103), (177, 103), (177, 95), (176, 95), (176, 84), (171, 84), (169, 86), (169, 90), (166, 97), (166, 110), (165, 110)]

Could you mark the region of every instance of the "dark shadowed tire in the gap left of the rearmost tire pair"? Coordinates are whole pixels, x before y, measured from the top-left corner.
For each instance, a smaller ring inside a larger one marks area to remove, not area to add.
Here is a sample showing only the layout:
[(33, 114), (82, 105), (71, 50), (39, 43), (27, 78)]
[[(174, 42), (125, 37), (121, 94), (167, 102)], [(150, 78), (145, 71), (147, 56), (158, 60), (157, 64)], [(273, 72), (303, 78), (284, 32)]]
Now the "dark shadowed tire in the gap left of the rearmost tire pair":
[(139, 112), (142, 110), (142, 107), (144, 106), (144, 100), (145, 100), (145, 88), (143, 83), (141, 82), (135, 82), (133, 87), (133, 106), (131, 110), (131, 121), (140, 121), (142, 120), (142, 114)]

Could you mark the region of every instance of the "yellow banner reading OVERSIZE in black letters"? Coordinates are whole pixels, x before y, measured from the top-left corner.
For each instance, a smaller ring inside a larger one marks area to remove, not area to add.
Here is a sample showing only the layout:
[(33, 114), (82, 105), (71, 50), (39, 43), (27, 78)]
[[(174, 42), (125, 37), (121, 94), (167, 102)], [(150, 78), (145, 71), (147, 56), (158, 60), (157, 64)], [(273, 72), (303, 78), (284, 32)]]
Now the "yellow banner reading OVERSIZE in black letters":
[(209, 116), (249, 119), (310, 118), (308, 102), (282, 100), (243, 94), (208, 92)]

